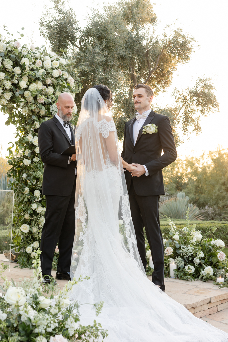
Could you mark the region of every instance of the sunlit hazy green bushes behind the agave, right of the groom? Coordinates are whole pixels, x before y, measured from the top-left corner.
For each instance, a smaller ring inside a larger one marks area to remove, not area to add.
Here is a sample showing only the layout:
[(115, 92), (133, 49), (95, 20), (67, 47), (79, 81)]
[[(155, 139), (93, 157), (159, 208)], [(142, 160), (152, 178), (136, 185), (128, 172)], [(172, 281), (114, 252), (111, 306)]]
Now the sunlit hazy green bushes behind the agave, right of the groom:
[(184, 191), (206, 220), (227, 220), (228, 150), (218, 148), (199, 158), (178, 159), (163, 170), (169, 194)]

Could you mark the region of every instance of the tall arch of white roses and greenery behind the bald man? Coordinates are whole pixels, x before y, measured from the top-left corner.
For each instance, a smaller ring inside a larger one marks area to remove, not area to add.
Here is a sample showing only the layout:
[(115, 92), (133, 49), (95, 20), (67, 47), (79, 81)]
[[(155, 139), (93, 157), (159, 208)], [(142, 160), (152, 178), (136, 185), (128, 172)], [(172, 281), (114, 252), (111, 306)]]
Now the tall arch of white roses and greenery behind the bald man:
[[(21, 46), (19, 40), (0, 35), (1, 111), (8, 115), (6, 125), (15, 125), (18, 138), (16, 153), (12, 150), (14, 144), (8, 148), (11, 166), (8, 176), (13, 178), (10, 183), (15, 192), (12, 243), (21, 267), (32, 266), (44, 223), (43, 163), (39, 155), (38, 130), (43, 121), (57, 113), (59, 94), (69, 92), (75, 97), (80, 92), (74, 64), (64, 51), (60, 56), (48, 52), (44, 46)], [(73, 115), (75, 124), (76, 106)], [(57, 257), (55, 253), (55, 264)]]

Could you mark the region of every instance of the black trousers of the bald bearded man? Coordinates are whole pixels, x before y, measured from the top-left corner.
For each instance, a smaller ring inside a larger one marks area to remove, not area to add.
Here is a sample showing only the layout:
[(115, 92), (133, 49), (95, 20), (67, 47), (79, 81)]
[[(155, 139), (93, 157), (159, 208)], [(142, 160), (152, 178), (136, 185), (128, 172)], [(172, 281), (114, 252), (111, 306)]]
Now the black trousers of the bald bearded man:
[(75, 189), (76, 176), (69, 196), (45, 196), (45, 223), (40, 244), (43, 275), (51, 274), (57, 244), (59, 249), (57, 272), (70, 272), (71, 253), (75, 237)]

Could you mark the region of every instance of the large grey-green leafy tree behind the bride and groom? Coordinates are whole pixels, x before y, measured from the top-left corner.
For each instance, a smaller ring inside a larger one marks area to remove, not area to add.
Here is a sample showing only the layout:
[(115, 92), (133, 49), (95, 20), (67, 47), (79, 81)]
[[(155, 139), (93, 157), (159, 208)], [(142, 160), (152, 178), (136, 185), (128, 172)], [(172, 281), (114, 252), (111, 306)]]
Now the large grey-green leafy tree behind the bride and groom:
[[(41, 35), (50, 41), (55, 52), (67, 45), (72, 47), (83, 84), (83, 93), (76, 101), (79, 108), (84, 92), (94, 84), (106, 84), (112, 90), (113, 119), (121, 139), (125, 122), (135, 115), (134, 85), (148, 84), (156, 94), (164, 91), (177, 66), (191, 59), (195, 39), (172, 26), (161, 34), (149, 0), (121, 0), (104, 5), (103, 9), (92, 8), (84, 28), (78, 27), (75, 14), (65, 1), (52, 2), (40, 19)], [(175, 89), (173, 96), (174, 108), (155, 109), (170, 117), (178, 145), (183, 134), (200, 132), (200, 116), (217, 110), (218, 103), (211, 79), (205, 78), (199, 78), (191, 89)]]

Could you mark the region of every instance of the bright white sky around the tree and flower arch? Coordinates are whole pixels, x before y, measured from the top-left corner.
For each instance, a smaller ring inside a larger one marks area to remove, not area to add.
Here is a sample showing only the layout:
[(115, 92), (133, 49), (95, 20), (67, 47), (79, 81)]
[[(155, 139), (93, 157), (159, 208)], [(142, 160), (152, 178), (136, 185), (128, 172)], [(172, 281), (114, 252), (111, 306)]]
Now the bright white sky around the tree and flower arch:
[[(109, 1), (114, 2), (114, 1)], [(33, 42), (36, 46), (44, 43), (39, 35), (38, 21), (43, 12), (43, 5), (50, 2), (45, 0), (11, 0), (11, 8), (7, 2), (1, 3), (1, 11), (4, 13), (5, 25), (8, 26), (13, 38), (18, 38), (17, 31), (23, 32), (25, 37), (22, 42)], [(77, 14), (81, 26), (86, 24), (86, 12), (91, 6), (101, 5), (98, 0), (71, 1), (71, 6)], [(174, 73), (171, 87), (165, 93), (155, 96), (154, 102), (161, 106), (172, 104), (171, 94), (175, 87), (182, 89), (191, 87), (200, 77), (211, 77), (219, 102), (219, 113), (209, 114), (207, 118), (202, 118), (202, 134), (191, 136), (185, 140), (184, 144), (178, 147), (178, 156), (200, 156), (203, 151), (214, 150), (220, 145), (228, 147), (228, 113), (227, 113), (227, 0), (158, 0), (154, 5), (154, 11), (160, 21), (159, 30), (162, 32), (166, 25), (175, 23), (182, 27), (185, 32), (197, 40), (199, 49), (192, 55), (189, 63), (179, 66)], [(1, 22), (2, 24), (2, 22)], [(3, 23), (4, 24), (4, 23)], [(25, 27), (22, 31), (21, 28)], [(6, 152), (8, 142), (14, 141), (15, 128), (5, 126), (6, 116), (0, 112), (0, 145), (2, 145), (2, 155)]]

